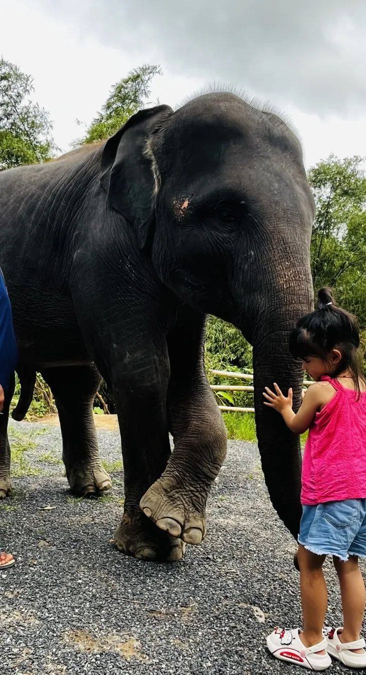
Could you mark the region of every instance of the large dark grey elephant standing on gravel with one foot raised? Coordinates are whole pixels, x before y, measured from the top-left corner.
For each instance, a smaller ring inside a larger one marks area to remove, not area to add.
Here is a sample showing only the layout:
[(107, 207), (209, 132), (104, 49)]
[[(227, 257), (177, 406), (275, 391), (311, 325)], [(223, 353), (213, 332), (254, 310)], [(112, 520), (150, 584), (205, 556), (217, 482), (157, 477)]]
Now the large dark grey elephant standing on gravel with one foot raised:
[[(120, 551), (180, 560), (205, 537), (209, 489), (227, 433), (204, 367), (207, 315), (253, 345), (255, 419), (269, 496), (294, 537), (300, 445), (263, 406), (265, 385), (292, 386), (287, 337), (311, 310), (314, 200), (300, 142), (270, 109), (229, 91), (175, 111), (142, 109), (104, 142), (0, 173), (0, 265), (19, 350), (22, 394), (51, 387), (63, 462), (76, 495), (111, 487), (92, 402), (113, 391), (124, 462)], [(10, 490), (5, 414), (0, 495)], [(169, 444), (169, 433), (174, 450)]]

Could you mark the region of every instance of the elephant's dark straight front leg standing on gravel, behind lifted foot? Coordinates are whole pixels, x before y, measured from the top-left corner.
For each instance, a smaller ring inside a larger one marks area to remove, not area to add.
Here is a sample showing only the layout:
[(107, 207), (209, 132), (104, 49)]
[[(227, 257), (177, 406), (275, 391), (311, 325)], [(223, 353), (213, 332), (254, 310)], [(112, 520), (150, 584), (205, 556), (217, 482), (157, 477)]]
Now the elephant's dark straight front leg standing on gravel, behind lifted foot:
[[(128, 352), (133, 354), (132, 349)], [(185, 547), (181, 539), (159, 529), (139, 506), (142, 495), (161, 476), (171, 454), (166, 408), (169, 381), (166, 343), (153, 349), (140, 345), (135, 354), (112, 373), (125, 489), (124, 515), (113, 539), (122, 553), (135, 558), (180, 560)]]

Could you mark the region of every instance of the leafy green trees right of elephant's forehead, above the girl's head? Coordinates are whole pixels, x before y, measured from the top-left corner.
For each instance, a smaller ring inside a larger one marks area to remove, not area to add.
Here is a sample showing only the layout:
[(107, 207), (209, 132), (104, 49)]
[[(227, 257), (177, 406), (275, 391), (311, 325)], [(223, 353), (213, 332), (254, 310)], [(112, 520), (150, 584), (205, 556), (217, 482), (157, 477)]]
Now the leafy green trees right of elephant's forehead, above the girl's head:
[(361, 157), (330, 155), (309, 171), (317, 213), (311, 238), (314, 289), (331, 286), (366, 329), (366, 178)]

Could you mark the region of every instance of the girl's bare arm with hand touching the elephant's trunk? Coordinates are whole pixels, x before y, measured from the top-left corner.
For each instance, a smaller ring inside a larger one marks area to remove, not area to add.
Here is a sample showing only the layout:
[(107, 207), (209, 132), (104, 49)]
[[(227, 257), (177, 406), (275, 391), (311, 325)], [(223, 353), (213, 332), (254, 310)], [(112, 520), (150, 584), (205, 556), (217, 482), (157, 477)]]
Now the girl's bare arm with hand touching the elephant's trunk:
[(305, 391), (303, 403), (295, 414), (292, 410), (292, 389), (288, 389), (288, 396), (284, 396), (276, 382), (273, 382), (273, 386), (276, 389), (276, 394), (268, 387), (265, 387), (267, 393), (263, 391), (263, 396), (267, 399), (264, 405), (278, 410), (288, 428), (294, 433), (307, 431), (313, 421), (315, 412), (323, 402), (321, 387), (317, 383), (310, 385), (309, 389)]

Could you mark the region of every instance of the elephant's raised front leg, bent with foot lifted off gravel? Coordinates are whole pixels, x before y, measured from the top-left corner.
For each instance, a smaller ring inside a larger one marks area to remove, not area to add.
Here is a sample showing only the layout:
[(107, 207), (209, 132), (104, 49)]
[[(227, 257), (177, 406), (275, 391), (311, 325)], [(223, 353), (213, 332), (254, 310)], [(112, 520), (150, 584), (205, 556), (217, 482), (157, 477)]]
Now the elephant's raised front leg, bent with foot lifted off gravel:
[(227, 433), (203, 367), (205, 318), (185, 308), (169, 337), (167, 395), (174, 452), (140, 507), (157, 526), (191, 544), (206, 531), (209, 489), (226, 456)]

